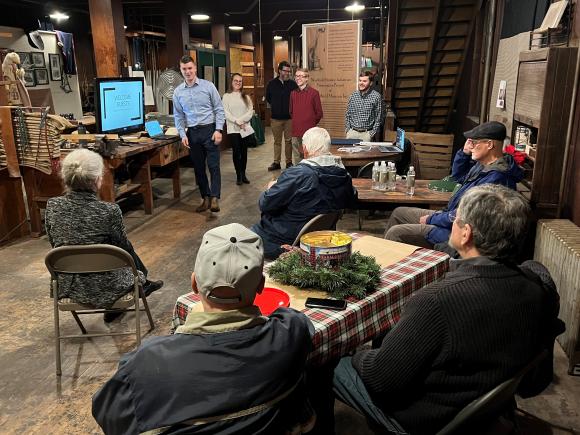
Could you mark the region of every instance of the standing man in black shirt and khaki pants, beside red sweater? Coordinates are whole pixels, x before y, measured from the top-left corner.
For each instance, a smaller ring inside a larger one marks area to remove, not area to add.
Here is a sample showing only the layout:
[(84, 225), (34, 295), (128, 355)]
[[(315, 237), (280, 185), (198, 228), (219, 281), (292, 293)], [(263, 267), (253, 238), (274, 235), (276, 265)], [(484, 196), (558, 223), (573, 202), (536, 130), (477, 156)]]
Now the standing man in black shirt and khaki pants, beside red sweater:
[(266, 87), (266, 101), (272, 108), (272, 134), (274, 135), (274, 163), (268, 166), (268, 171), (280, 169), (282, 157), (282, 134), (284, 134), (284, 153), (286, 167), (292, 166), (292, 120), (290, 119), (290, 93), (298, 88), (294, 80), (290, 80), (292, 68), (286, 61), (278, 65), (278, 77), (270, 80)]

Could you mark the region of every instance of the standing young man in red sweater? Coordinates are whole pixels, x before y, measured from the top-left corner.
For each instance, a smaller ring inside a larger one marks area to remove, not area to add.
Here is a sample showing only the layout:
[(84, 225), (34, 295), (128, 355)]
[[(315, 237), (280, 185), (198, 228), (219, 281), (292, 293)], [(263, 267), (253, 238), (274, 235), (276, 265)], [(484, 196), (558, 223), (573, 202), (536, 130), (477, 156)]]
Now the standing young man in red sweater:
[(297, 164), (304, 156), (302, 153), (302, 135), (316, 127), (322, 119), (320, 94), (308, 86), (309, 73), (306, 68), (298, 68), (294, 76), (298, 89), (290, 94), (290, 117), (292, 118), (292, 163)]

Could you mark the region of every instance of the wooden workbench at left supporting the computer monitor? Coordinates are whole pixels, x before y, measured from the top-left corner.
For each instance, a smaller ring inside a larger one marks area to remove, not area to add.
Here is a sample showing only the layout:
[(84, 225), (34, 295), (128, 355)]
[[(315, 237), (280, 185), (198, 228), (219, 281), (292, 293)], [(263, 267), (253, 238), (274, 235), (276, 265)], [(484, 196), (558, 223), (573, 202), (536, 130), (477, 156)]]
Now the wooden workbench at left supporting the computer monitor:
[[(62, 150), (64, 157), (70, 150)], [(179, 138), (175, 139), (145, 139), (132, 145), (119, 146), (110, 158), (103, 158), (105, 170), (99, 197), (103, 201), (115, 202), (118, 198), (130, 193), (143, 195), (143, 205), (146, 214), (153, 213), (153, 190), (151, 187), (151, 167), (163, 167), (165, 177), (173, 179), (173, 196), (181, 196), (179, 159), (188, 154)], [(120, 185), (115, 189), (115, 171), (124, 166), (127, 161), (135, 170), (130, 184)], [(64, 186), (58, 174), (44, 174), (36, 169), (21, 167), (24, 187), (30, 210), (30, 228), (33, 236), (42, 234), (42, 218), (40, 210), (46, 207), (48, 199), (60, 196)]]

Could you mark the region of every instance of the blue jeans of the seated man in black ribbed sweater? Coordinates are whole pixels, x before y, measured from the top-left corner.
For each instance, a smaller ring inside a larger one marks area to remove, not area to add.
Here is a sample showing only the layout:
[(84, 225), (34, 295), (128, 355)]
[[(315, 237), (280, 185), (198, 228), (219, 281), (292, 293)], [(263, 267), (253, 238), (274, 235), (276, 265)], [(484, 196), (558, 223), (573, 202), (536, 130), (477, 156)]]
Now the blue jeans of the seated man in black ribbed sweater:
[(352, 357), (342, 358), (334, 369), (333, 390), (338, 400), (372, 420), (377, 426), (392, 434), (407, 434), (393, 417), (385, 415), (373, 403), (362, 379), (352, 366)]

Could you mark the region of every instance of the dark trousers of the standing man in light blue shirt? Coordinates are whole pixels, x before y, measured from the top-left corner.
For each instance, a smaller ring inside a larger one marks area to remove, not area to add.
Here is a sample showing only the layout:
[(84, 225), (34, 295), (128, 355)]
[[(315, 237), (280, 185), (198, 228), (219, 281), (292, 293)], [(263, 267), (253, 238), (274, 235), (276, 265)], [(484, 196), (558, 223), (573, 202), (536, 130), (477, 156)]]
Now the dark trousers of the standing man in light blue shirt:
[[(202, 198), (209, 196), (219, 198), (221, 193), (221, 174), (220, 174), (220, 149), (211, 137), (215, 131), (215, 124), (209, 124), (203, 127), (189, 127), (187, 129), (187, 139), (189, 140), (189, 157), (193, 162), (195, 180), (199, 187), (199, 193)], [(207, 180), (205, 170), (209, 169), (211, 187)]]

